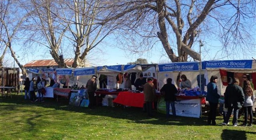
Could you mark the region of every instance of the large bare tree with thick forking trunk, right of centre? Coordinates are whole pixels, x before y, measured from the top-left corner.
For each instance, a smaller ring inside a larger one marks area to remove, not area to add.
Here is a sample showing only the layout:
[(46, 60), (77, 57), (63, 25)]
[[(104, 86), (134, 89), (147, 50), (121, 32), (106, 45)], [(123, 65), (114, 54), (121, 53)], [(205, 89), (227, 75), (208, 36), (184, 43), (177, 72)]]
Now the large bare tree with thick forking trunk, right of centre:
[[(254, 31), (248, 30), (255, 27), (248, 22), (255, 21), (254, 0), (116, 0), (107, 5), (115, 11), (109, 19), (122, 23), (120, 32), (132, 39), (131, 49), (148, 50), (148, 39), (159, 39), (172, 62), (187, 61), (189, 56), (200, 61), (193, 49), (199, 36), (219, 39), (225, 53), (237, 54), (255, 44)], [(136, 45), (138, 37), (142, 43)]]

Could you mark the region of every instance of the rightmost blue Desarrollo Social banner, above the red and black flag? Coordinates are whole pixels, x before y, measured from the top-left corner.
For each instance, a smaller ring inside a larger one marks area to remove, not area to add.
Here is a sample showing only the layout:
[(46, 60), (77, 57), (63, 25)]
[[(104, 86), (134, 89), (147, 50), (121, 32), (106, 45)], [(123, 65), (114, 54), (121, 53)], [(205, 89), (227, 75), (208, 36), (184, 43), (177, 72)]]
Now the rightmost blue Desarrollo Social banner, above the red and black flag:
[(206, 68), (230, 68), (230, 69), (251, 69), (252, 60), (222, 60), (222, 61), (203, 61), (202, 69)]

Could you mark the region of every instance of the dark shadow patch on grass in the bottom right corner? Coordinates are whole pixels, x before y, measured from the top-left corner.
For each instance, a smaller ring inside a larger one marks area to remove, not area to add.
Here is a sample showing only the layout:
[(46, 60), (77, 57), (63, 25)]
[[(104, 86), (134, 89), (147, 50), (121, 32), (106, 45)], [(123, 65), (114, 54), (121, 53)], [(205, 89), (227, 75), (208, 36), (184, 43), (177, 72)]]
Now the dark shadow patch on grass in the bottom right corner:
[(250, 134), (256, 134), (256, 132), (248, 132), (248, 131), (241, 131), (241, 130), (229, 130), (229, 129), (224, 129), (222, 130), (221, 133), (221, 139), (222, 140), (245, 140), (246, 138), (246, 133)]

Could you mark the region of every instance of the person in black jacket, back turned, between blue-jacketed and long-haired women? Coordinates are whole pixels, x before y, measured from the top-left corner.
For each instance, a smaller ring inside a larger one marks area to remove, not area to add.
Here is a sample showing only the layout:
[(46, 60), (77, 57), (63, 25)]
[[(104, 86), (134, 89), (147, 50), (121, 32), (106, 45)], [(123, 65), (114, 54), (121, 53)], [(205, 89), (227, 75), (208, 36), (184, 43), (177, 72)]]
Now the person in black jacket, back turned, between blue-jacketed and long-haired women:
[(225, 103), (225, 107), (228, 108), (228, 112), (224, 120), (224, 123), (222, 123), (222, 125), (227, 125), (233, 109), (234, 109), (234, 116), (233, 116), (232, 123), (233, 123), (233, 126), (238, 125), (237, 124), (238, 110), (239, 108), (242, 107), (242, 105), (245, 102), (245, 95), (244, 95), (243, 89), (238, 85), (239, 85), (239, 79), (235, 77), (234, 83), (229, 84), (226, 88), (224, 103)]

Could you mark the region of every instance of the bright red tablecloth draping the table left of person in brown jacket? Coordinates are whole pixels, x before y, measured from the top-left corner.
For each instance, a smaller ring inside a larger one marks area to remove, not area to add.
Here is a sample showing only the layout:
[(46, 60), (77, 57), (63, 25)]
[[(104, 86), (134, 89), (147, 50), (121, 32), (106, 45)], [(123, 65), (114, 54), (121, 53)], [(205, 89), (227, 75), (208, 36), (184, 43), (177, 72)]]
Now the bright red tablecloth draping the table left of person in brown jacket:
[(113, 102), (132, 107), (143, 107), (144, 94), (133, 92), (120, 92)]

